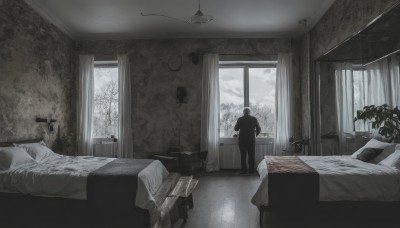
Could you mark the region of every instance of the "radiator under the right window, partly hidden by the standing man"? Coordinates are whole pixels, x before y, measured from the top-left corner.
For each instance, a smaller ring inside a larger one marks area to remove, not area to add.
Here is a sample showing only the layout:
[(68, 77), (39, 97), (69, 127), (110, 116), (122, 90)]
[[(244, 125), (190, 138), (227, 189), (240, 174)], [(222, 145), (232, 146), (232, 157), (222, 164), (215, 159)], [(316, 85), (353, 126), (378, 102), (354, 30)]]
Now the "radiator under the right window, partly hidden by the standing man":
[[(255, 167), (264, 159), (264, 156), (273, 155), (273, 152), (273, 139), (257, 141), (255, 148)], [(220, 143), (219, 153), (220, 169), (240, 169), (240, 150), (237, 139), (235, 141), (222, 141)]]

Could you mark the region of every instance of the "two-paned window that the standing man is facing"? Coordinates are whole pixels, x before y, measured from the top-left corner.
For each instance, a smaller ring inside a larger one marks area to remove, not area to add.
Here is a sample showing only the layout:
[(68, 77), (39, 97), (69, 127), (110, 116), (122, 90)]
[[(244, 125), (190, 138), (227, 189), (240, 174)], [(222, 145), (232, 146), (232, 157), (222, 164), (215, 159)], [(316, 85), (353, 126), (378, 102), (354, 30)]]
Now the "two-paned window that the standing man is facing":
[(276, 63), (221, 62), (220, 137), (231, 138), (243, 108), (250, 107), (261, 126), (261, 137), (275, 133)]

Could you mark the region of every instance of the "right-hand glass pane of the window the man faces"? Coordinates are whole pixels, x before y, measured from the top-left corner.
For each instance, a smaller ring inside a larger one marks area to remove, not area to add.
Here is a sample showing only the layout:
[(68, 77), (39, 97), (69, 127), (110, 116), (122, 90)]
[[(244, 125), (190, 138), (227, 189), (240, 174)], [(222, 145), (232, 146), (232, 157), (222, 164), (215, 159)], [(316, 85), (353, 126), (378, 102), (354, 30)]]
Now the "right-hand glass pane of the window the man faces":
[(276, 68), (249, 69), (249, 102), (261, 126), (261, 137), (275, 134)]

